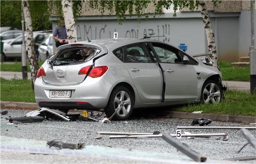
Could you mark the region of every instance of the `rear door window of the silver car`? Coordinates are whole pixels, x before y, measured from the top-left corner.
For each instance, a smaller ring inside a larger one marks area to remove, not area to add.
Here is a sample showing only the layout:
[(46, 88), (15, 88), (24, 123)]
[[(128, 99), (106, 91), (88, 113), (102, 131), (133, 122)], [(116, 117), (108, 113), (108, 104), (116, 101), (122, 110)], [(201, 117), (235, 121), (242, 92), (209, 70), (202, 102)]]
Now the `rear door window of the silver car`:
[(126, 53), (126, 62), (153, 62), (143, 44), (137, 44), (126, 47)]

